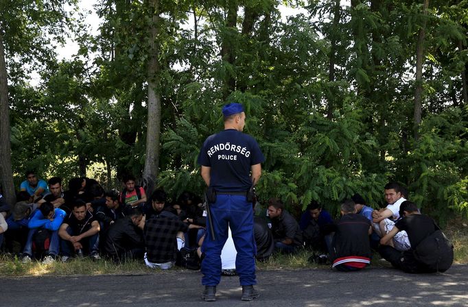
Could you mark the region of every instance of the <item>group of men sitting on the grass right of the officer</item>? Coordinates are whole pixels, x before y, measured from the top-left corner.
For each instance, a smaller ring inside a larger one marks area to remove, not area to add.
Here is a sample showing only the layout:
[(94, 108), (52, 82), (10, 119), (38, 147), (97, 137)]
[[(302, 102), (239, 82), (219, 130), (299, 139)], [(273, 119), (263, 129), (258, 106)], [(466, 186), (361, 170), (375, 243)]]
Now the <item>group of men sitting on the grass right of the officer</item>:
[[(329, 260), (339, 271), (363, 269), (371, 262), (372, 249), (393, 267), (409, 273), (448, 269), (453, 262), (453, 247), (436, 223), (407, 200), (407, 192), (399, 184), (386, 184), (384, 197), (387, 206), (374, 210), (355, 194), (342, 202), (341, 217), (335, 221), (312, 201), (299, 223), (280, 199), (270, 199), (268, 217), (275, 249), (290, 254), (303, 246), (311, 247), (323, 252), (312, 258), (314, 262)], [(441, 247), (432, 249), (434, 244)]]

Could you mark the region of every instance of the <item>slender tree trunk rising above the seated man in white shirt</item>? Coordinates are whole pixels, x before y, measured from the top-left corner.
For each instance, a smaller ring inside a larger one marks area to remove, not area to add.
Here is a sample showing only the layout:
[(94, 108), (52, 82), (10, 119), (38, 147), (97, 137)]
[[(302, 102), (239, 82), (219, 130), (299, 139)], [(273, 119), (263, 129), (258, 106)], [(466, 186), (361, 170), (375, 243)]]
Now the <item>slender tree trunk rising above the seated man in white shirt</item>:
[(419, 138), (419, 125), (421, 124), (421, 116), (423, 113), (423, 60), (424, 60), (424, 36), (425, 36), (425, 24), (426, 16), (428, 15), (429, 0), (424, 0), (423, 10), (423, 23), (421, 29), (419, 29), (419, 36), (416, 50), (416, 90), (414, 92), (414, 138)]

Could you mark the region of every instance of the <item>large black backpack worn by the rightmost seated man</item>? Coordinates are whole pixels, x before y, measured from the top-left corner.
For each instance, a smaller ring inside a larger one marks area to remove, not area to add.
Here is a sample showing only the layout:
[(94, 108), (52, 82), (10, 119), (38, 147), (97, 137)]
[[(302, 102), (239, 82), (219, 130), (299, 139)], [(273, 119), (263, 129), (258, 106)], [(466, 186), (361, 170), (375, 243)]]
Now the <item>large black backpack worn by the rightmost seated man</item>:
[(454, 245), (439, 228), (414, 249), (414, 258), (430, 271), (445, 272), (454, 262)]

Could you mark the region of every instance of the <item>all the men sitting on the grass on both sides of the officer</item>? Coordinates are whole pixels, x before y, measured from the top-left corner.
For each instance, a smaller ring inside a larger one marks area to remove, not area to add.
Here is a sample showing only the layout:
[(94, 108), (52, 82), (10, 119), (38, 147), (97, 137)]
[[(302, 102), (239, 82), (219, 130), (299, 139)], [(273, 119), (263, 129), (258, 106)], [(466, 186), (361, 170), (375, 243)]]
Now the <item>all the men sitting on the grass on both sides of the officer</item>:
[[(23, 262), (38, 257), (45, 263), (59, 257), (67, 261), (86, 255), (93, 259), (106, 256), (117, 262), (144, 259), (148, 267), (169, 269), (181, 248), (202, 245), (206, 212), (191, 193), (183, 193), (168, 204), (162, 190), (154, 191), (148, 199), (144, 189), (135, 186), (132, 175), (124, 177), (121, 193), (105, 193), (98, 182), (86, 177), (70, 180), (65, 192), (58, 177), (49, 179), (48, 184), (38, 180), (34, 172), (27, 172), (26, 178), (8, 215), (0, 195), (0, 243), (3, 234), (6, 250), (12, 251), (13, 243), (19, 243)], [(403, 271), (434, 271), (414, 259), (412, 251), (439, 228), (403, 194), (406, 191), (398, 184), (387, 184), (384, 196), (388, 205), (380, 210), (366, 206), (355, 194), (343, 201), (341, 217), (335, 221), (312, 201), (299, 223), (281, 199), (269, 199), (267, 214), (255, 216), (257, 260), (265, 260), (274, 251), (292, 254), (309, 247), (323, 254), (314, 261), (329, 260), (335, 269), (356, 271), (370, 264), (373, 247)], [(223, 269), (235, 269), (235, 248), (228, 245), (222, 253)], [(201, 256), (200, 249), (198, 254)], [(453, 251), (445, 254), (451, 264)]]

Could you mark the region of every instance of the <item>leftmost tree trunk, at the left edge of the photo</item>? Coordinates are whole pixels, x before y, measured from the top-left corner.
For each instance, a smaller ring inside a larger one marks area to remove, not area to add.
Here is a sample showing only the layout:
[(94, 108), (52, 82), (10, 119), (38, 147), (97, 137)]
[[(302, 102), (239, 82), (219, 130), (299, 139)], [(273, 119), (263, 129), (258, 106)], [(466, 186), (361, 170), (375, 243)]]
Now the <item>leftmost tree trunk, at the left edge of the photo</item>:
[(3, 197), (12, 206), (16, 202), (16, 195), (11, 160), (7, 75), (3, 35), (0, 32), (0, 184), (3, 188)]

